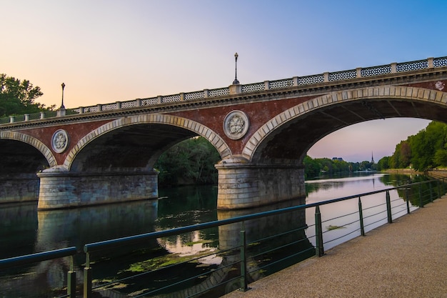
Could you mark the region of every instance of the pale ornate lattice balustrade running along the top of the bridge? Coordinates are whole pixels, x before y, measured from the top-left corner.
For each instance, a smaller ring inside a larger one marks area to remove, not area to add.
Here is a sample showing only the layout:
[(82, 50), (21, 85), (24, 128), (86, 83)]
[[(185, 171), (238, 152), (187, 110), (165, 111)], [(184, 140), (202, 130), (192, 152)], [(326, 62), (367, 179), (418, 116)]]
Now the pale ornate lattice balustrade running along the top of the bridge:
[[(387, 65), (371, 66), (366, 68), (358, 67), (344, 71), (325, 72), (323, 74), (312, 74), (310, 76), (293, 76), (292, 78), (279, 79), (274, 81), (263, 81), (241, 85), (241, 93), (250, 93), (256, 91), (266, 91), (272, 89), (283, 89), (293, 86), (306, 86), (311, 84), (321, 84), (331, 81), (343, 81), (357, 79), (362, 77), (381, 76), (383, 74), (398, 74), (408, 71), (417, 71), (420, 69), (433, 69), (447, 66), (447, 56), (438, 58), (428, 58), (425, 60), (391, 63)], [(96, 104), (94, 106), (79, 106), (75, 109), (67, 109), (69, 114), (87, 114), (100, 111), (116, 111), (121, 109), (132, 109), (144, 106), (156, 106), (158, 104), (169, 104), (180, 101), (191, 101), (197, 99), (210, 99), (218, 96), (227, 96), (230, 94), (230, 87), (218, 89), (204, 89), (201, 91), (182, 92), (180, 94), (171, 94), (166, 96), (155, 96), (146, 99), (132, 99), (129, 101), (116, 101), (109, 104)], [(46, 119), (55, 117), (56, 111), (45, 111), (36, 114), (25, 114), (19, 116), (9, 116), (0, 118), (0, 124), (14, 123), (19, 121), (29, 121), (32, 119)]]

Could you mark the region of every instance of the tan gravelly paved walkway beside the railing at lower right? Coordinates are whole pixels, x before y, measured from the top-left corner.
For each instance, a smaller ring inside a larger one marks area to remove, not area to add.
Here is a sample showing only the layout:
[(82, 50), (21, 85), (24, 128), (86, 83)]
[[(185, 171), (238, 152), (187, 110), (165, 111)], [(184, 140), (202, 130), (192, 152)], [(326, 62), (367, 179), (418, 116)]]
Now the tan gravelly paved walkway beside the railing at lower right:
[(447, 196), (225, 298), (447, 297)]

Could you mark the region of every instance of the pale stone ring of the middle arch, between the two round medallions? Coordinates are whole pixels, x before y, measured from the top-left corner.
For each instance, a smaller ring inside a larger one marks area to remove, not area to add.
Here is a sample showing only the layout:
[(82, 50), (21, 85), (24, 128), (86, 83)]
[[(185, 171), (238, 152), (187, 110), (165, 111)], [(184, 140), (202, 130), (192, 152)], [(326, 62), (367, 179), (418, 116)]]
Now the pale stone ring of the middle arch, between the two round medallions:
[[(115, 131), (116, 129), (121, 129), (126, 126), (139, 125), (139, 124), (165, 124), (169, 126), (176, 126), (181, 129), (186, 129), (194, 132), (199, 136), (204, 136), (204, 138), (208, 139), (209, 142), (216, 148), (219, 152), (222, 159), (225, 159), (231, 155), (231, 150), (226, 144), (226, 142), (216, 134), (214, 131), (204, 126), (203, 124), (199, 124), (199, 122), (186, 119), (180, 116), (172, 116), (167, 114), (144, 114), (144, 115), (136, 115), (136, 116), (128, 116), (120, 119), (116, 119), (107, 124), (100, 126), (94, 131), (91, 131), (89, 134), (80, 139), (76, 146), (71, 149), (71, 152), (67, 155), (63, 167), (66, 170), (71, 169), (71, 165), (73, 164), (76, 156), (81, 152), (82, 149), (85, 149), (86, 146), (94, 139), (98, 139), (105, 134), (108, 134), (111, 131)], [(160, 152), (163, 152), (165, 148), (160, 149)], [(151, 157), (149, 163), (154, 163), (156, 159), (159, 157), (159, 154), (155, 157)]]

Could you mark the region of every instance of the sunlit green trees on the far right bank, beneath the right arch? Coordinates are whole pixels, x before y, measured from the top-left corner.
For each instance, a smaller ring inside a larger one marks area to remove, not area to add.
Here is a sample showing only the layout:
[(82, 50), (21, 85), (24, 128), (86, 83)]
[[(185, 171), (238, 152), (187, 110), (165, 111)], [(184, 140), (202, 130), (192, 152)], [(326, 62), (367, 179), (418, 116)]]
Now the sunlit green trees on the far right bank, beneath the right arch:
[(447, 166), (447, 125), (432, 121), (426, 129), (396, 145), (391, 157), (383, 157), (378, 168), (425, 171)]

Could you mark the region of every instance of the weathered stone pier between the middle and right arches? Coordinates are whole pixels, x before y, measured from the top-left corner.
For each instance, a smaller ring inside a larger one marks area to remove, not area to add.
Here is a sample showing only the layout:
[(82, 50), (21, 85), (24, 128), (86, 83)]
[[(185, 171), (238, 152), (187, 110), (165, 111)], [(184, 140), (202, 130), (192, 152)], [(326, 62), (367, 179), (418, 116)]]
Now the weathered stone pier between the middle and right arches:
[(217, 209), (260, 207), (306, 197), (304, 167), (296, 164), (253, 164), (224, 159), (219, 172)]

